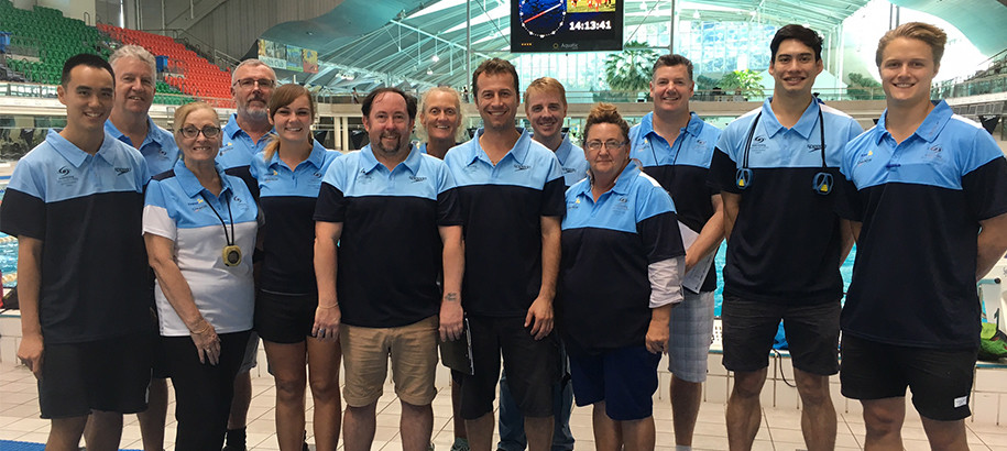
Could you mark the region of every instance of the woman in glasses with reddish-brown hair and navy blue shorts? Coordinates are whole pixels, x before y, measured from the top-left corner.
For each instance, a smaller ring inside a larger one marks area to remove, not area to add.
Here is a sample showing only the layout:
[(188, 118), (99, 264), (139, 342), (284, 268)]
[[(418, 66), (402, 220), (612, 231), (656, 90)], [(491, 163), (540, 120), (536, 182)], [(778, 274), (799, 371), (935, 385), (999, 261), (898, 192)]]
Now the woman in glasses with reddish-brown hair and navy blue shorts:
[(652, 396), (686, 252), (671, 198), (630, 160), (614, 106), (591, 110), (583, 147), (589, 177), (567, 190), (557, 305), (573, 396), (594, 405), (598, 449), (653, 450)]

